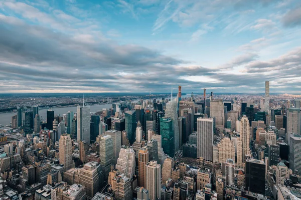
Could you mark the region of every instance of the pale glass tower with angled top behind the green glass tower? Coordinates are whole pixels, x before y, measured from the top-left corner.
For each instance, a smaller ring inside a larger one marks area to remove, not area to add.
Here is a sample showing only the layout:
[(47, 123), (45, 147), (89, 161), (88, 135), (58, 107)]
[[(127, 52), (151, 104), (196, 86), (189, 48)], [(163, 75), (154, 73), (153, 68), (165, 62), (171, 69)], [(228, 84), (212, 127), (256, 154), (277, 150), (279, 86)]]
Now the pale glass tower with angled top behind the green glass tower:
[(177, 152), (180, 147), (177, 107), (178, 107), (177, 101), (171, 100), (166, 104), (166, 108), (165, 108), (165, 116), (169, 117), (173, 121), (174, 152)]

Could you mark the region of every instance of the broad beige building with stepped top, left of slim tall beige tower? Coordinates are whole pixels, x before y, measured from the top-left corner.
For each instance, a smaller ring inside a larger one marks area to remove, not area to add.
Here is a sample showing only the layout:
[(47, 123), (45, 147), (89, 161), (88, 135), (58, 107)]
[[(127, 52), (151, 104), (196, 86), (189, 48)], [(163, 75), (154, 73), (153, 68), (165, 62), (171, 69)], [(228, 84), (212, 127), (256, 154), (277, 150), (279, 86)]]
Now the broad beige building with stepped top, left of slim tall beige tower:
[(225, 163), (227, 158), (235, 160), (234, 141), (230, 140), (228, 137), (225, 137), (217, 145), (219, 152), (219, 163)]

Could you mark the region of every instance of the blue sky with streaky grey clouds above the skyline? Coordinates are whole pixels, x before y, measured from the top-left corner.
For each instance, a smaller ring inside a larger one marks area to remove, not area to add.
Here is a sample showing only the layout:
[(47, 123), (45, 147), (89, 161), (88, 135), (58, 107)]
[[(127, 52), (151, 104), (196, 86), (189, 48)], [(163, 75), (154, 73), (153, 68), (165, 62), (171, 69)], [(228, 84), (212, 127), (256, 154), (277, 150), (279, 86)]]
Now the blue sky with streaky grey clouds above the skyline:
[(300, 0), (0, 0), (0, 93), (301, 93)]

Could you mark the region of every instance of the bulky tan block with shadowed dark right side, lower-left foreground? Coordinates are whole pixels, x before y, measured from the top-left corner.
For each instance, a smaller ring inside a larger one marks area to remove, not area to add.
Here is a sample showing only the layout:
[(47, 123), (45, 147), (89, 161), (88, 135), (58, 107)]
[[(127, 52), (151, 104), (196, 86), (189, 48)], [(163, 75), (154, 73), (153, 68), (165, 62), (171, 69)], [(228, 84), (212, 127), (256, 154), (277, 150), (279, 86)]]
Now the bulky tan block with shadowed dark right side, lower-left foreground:
[(86, 198), (92, 199), (103, 183), (101, 166), (98, 162), (91, 161), (84, 164), (79, 171), (79, 183), (86, 188)]

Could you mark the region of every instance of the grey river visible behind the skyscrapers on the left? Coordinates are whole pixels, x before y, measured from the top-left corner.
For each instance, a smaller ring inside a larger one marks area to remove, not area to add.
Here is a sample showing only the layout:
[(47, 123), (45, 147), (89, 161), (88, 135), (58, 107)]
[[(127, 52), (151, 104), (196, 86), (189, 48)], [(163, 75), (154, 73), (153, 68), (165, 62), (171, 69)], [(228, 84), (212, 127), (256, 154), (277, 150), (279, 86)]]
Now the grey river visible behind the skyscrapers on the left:
[[(110, 108), (111, 106), (112, 106), (112, 103), (100, 104), (100, 105), (90, 105), (90, 111), (91, 112), (96, 112), (96, 111), (102, 110), (102, 108)], [(47, 110), (48, 109), (40, 109), (39, 110), (39, 115), (44, 119), (46, 119)], [(76, 106), (72, 106), (72, 107), (55, 107), (55, 108), (52, 108), (52, 110), (54, 111), (55, 115), (63, 115), (63, 114), (66, 114), (68, 111), (77, 112), (76, 111)], [(17, 114), (17, 112), (0, 113), (0, 124), (9, 125), (10, 122), (12, 122), (12, 116), (14, 116), (15, 114)]]

